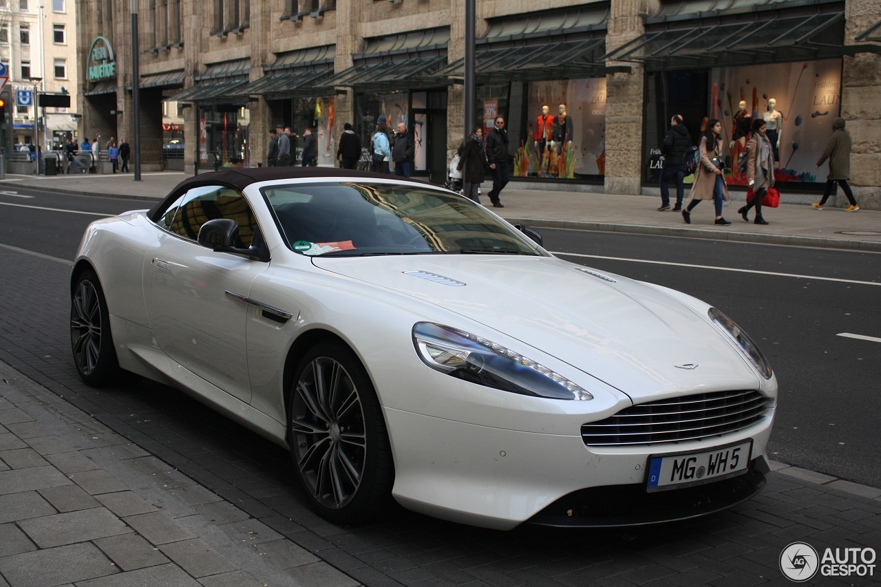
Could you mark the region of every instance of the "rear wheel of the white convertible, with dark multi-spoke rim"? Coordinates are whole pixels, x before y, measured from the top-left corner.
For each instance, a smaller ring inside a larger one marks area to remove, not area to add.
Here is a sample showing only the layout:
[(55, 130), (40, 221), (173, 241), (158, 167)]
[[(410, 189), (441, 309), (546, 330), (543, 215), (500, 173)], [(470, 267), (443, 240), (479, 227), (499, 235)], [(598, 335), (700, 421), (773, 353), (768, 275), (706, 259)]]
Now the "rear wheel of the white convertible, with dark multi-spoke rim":
[(92, 270), (79, 274), (70, 293), (70, 347), (85, 383), (103, 385), (121, 374), (110, 334), (107, 301)]

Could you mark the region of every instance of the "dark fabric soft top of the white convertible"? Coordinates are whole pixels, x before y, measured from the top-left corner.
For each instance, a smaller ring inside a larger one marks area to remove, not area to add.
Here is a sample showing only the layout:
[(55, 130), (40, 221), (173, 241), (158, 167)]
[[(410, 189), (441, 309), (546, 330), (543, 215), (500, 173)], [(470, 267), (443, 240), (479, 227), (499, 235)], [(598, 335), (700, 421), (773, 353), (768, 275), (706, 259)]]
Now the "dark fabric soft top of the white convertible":
[(242, 189), (247, 188), (250, 184), (257, 182), (270, 182), (273, 180), (287, 179), (321, 179), (325, 177), (342, 177), (346, 180), (391, 179), (438, 187), (431, 183), (414, 180), (409, 177), (374, 174), (369, 171), (339, 169), (337, 167), (231, 167), (224, 169), (223, 171), (211, 171), (209, 173), (188, 177), (178, 183), (167, 197), (163, 197), (159, 202), (153, 204), (148, 215), (155, 221), (155, 215), (160, 211), (165, 210), (169, 199), (180, 196), (188, 189), (204, 185), (224, 185), (241, 191)]

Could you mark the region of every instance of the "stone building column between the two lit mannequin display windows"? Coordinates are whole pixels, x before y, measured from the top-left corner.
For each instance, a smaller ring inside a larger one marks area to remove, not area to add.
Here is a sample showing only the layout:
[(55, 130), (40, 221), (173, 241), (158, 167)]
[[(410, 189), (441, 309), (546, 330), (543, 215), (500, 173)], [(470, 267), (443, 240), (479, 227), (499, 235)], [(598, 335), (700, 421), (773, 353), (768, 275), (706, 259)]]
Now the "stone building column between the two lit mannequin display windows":
[[(659, 6), (659, 0), (611, 0), (606, 52), (644, 33), (640, 13), (654, 13)], [(638, 63), (608, 64), (628, 65), (631, 72), (606, 76), (605, 191), (639, 194), (645, 71)]]

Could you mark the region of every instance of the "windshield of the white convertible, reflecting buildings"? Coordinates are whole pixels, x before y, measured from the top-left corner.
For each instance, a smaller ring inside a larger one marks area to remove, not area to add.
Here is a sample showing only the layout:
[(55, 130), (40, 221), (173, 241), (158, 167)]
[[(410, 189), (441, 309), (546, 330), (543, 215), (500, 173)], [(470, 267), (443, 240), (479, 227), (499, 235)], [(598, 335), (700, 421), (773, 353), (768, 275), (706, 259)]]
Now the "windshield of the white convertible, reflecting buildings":
[(329, 182), (261, 191), (287, 246), (304, 255), (546, 255), (480, 204), (439, 189)]

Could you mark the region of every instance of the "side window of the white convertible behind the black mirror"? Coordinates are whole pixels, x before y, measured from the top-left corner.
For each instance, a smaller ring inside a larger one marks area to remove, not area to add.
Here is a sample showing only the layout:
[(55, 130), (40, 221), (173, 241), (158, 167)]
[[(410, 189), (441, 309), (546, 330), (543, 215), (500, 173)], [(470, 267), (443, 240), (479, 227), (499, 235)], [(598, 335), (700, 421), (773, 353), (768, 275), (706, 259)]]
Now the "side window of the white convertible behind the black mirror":
[(169, 232), (196, 241), (205, 222), (221, 218), (235, 220), (239, 225), (240, 246), (245, 249), (251, 246), (257, 221), (248, 200), (232, 188), (204, 186), (190, 189), (168, 206), (157, 223)]

